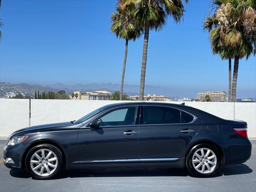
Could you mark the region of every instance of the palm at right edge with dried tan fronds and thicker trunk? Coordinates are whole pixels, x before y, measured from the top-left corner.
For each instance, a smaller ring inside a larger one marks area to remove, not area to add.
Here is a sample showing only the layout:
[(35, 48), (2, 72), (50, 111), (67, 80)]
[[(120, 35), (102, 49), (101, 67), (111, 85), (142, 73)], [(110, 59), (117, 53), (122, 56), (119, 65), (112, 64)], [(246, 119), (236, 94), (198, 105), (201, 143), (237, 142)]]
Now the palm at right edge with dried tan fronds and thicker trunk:
[[(210, 30), (212, 47), (222, 58), (234, 58), (232, 102), (236, 102), (238, 65), (241, 58), (256, 54), (256, 1), (214, 0), (217, 10), (212, 16), (216, 28)], [(231, 61), (230, 61), (231, 62)], [(231, 79), (231, 64), (230, 77)]]

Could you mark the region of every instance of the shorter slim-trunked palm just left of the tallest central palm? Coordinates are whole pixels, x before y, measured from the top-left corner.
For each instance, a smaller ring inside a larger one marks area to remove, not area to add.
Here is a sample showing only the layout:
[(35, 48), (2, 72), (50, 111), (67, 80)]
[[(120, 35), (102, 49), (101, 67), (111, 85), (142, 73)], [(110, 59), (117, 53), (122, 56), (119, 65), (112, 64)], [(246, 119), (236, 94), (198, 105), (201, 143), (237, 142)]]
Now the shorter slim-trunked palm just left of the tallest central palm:
[(126, 67), (126, 58), (128, 51), (128, 41), (136, 40), (140, 37), (142, 33), (142, 28), (139, 28), (134, 23), (134, 6), (126, 6), (124, 9), (117, 7), (116, 12), (111, 15), (111, 32), (116, 34), (117, 38), (125, 39), (125, 49), (124, 49), (124, 62), (122, 79), (120, 85), (120, 100), (122, 100), (123, 88), (124, 88), (124, 73)]

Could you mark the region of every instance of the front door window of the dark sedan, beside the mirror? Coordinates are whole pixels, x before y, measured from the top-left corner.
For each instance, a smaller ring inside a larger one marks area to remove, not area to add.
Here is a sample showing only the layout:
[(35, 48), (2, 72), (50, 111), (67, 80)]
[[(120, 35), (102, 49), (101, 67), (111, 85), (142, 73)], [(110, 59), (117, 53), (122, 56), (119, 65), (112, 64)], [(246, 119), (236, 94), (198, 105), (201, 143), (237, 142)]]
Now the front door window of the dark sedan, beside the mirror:
[(136, 122), (137, 110), (138, 107), (111, 110), (98, 118), (98, 120), (100, 120), (100, 126), (134, 125)]

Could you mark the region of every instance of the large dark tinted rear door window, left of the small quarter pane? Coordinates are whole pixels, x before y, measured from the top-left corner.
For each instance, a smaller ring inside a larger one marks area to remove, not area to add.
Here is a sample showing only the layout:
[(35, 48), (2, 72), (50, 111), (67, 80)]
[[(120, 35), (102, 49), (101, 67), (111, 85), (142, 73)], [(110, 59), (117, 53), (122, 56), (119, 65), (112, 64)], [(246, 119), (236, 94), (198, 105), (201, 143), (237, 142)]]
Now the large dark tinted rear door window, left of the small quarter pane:
[(174, 124), (180, 123), (180, 110), (161, 107), (144, 106), (142, 124)]

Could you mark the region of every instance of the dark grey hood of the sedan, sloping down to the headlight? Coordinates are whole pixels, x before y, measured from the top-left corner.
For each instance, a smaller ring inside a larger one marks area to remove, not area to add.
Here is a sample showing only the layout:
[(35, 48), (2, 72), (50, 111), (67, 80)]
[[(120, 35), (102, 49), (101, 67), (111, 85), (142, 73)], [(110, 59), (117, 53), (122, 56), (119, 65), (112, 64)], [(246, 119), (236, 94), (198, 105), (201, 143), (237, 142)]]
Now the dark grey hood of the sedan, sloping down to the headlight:
[(52, 128), (61, 128), (65, 126), (72, 126), (71, 122), (63, 122), (63, 123), (52, 123), (52, 124), (44, 124), (44, 125), (36, 125), (31, 127), (22, 128), (20, 130), (15, 131), (12, 135), (19, 133), (19, 132), (39, 132), (39, 131), (48, 131)]

